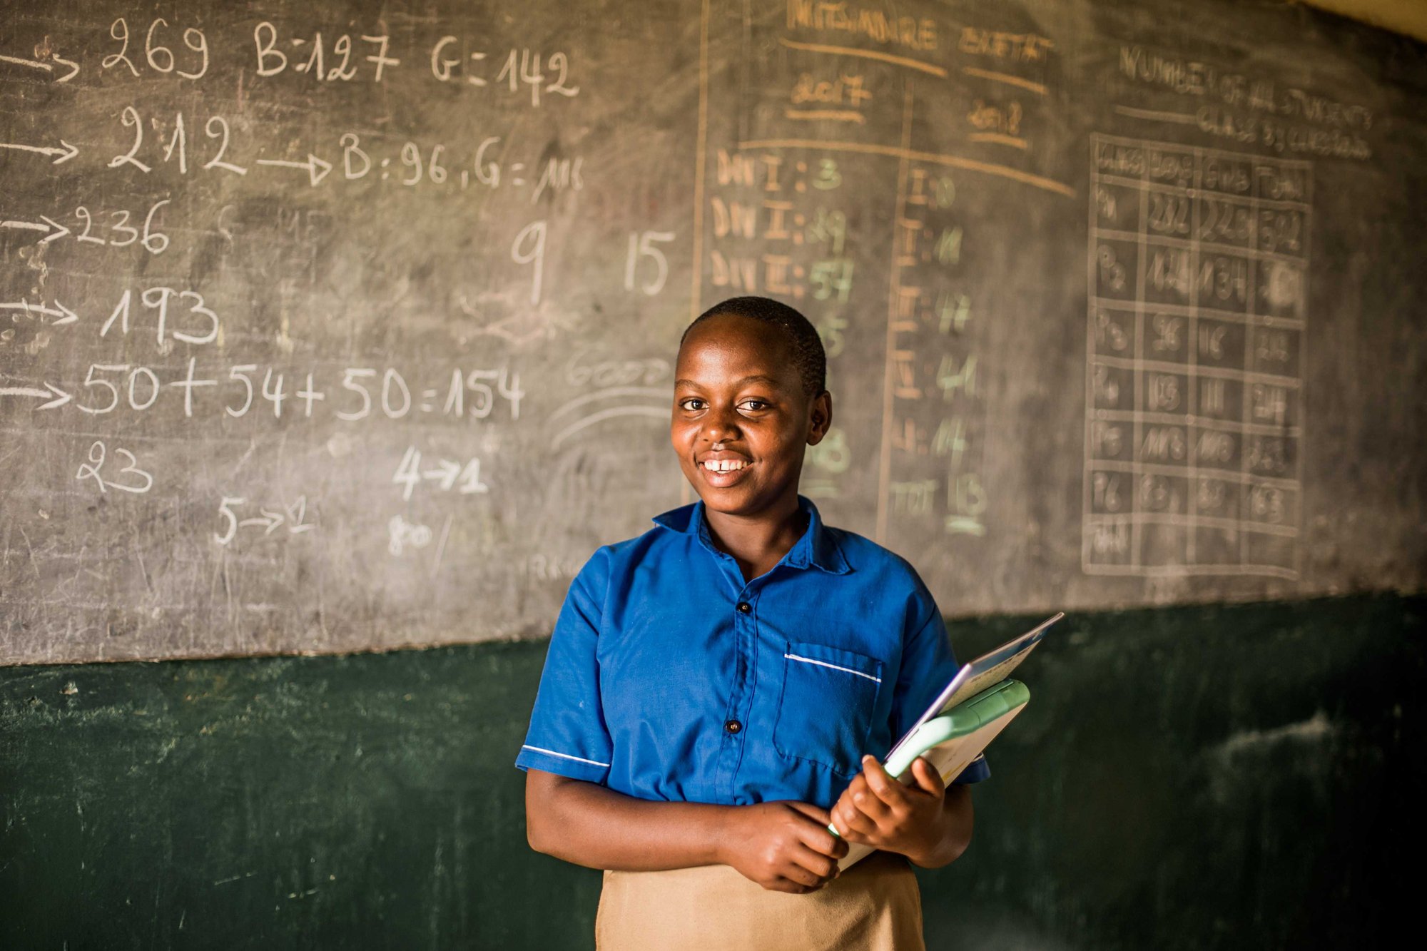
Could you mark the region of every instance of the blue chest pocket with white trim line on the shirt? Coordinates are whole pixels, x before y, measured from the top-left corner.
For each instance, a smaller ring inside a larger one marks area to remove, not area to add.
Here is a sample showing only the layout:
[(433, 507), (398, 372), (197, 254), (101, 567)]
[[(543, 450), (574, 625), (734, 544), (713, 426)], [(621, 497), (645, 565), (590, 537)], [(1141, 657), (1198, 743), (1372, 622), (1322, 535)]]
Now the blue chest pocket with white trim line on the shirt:
[(839, 775), (862, 768), (872, 714), (882, 691), (882, 661), (865, 654), (791, 641), (783, 651), (783, 690), (773, 748)]

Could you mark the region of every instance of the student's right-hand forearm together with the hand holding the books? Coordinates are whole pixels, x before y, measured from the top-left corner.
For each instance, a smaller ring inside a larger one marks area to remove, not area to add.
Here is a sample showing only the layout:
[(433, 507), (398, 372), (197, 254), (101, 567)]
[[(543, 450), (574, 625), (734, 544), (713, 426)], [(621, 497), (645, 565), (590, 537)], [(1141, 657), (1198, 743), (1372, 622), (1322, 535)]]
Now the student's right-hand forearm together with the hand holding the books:
[(833, 827), (849, 842), (900, 852), (923, 868), (948, 865), (972, 841), (972, 794), (948, 787), (926, 760), (912, 761), (912, 785), (903, 785), (873, 757), (832, 807)]

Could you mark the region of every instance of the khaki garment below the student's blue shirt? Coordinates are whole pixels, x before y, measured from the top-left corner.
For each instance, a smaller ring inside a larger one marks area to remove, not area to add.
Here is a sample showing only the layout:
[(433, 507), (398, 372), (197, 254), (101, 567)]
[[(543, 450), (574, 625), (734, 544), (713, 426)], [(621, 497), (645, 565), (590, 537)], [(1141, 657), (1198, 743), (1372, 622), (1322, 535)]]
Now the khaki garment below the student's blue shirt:
[(606, 871), (598, 951), (925, 951), (922, 894), (900, 855), (873, 852), (806, 895), (728, 865)]

